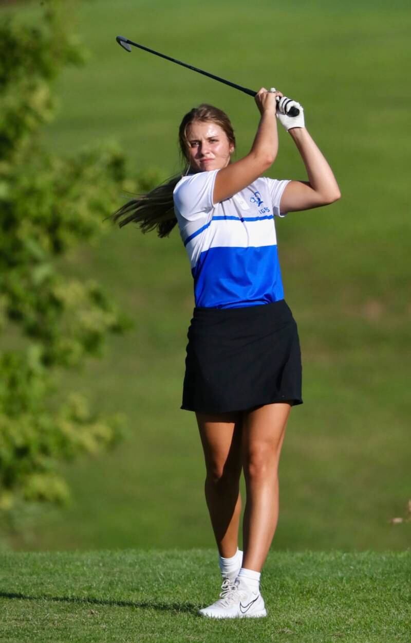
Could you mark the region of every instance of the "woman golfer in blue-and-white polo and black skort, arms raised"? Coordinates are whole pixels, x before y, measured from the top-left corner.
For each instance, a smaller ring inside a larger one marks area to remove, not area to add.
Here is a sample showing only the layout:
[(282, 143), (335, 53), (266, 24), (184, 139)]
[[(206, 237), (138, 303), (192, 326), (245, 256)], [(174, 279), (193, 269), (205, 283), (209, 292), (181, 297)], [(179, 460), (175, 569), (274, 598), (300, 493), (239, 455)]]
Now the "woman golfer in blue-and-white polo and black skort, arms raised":
[[(284, 301), (274, 217), (340, 198), (304, 126), (304, 110), (294, 103), (299, 116), (287, 116), (287, 100), (274, 88), (259, 90), (256, 137), (249, 154), (233, 163), (227, 115), (211, 105), (191, 109), (179, 131), (184, 175), (112, 215), (120, 226), (135, 221), (161, 237), (178, 222), (191, 263), (195, 308), (181, 408), (197, 417), (223, 577), (220, 598), (199, 613), (217, 619), (267, 615), (259, 579), (277, 525), (277, 468), (290, 408), (302, 403), (299, 338)], [(277, 120), (297, 145), (308, 181), (261, 177), (277, 156)]]

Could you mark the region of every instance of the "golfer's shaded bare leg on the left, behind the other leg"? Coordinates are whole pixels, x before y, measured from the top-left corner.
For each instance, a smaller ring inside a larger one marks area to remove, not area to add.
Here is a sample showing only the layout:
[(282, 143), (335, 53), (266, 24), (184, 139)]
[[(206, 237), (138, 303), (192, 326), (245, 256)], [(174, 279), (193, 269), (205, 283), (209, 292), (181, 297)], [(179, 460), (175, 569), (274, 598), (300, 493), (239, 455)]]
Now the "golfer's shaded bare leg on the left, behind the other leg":
[(204, 450), (205, 500), (220, 556), (234, 556), (241, 514), (241, 413), (196, 413)]

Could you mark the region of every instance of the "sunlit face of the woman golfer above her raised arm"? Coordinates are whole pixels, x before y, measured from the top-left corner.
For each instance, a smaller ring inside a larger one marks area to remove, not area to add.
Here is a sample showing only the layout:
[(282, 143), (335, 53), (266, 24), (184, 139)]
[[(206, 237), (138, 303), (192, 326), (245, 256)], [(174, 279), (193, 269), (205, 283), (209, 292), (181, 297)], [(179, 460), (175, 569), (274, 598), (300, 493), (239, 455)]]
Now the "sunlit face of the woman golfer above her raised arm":
[(234, 145), (220, 125), (195, 121), (188, 128), (187, 139), (191, 171), (221, 170), (229, 164)]

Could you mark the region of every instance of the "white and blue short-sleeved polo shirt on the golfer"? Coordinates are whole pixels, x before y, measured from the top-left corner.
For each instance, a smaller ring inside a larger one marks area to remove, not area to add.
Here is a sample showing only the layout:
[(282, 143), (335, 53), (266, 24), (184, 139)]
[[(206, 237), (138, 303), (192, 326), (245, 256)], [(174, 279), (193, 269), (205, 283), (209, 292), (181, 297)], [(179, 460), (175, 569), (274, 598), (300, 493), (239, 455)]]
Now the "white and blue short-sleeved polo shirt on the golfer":
[(174, 210), (194, 278), (196, 307), (240, 308), (284, 298), (274, 217), (289, 181), (260, 177), (213, 203), (219, 170), (184, 176)]

